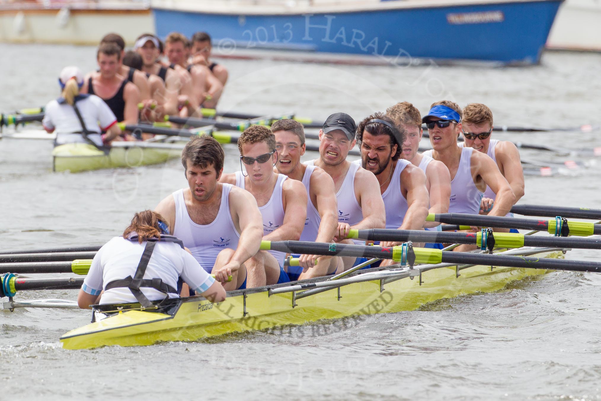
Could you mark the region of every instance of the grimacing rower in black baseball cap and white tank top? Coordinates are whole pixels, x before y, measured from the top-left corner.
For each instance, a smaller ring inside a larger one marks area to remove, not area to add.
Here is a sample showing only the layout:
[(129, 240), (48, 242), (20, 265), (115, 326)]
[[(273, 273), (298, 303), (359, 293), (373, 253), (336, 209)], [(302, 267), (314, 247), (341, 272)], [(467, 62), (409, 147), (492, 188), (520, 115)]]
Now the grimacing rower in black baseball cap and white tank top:
[[(330, 115), (319, 131), (319, 159), (308, 161), (328, 173), (334, 180), (338, 202), (338, 228), (336, 242), (363, 243), (345, 239), (349, 230), (384, 228), (386, 211), (380, 195), (380, 183), (371, 171), (347, 161), (350, 150), (355, 146), (355, 120), (346, 113)], [(344, 270), (365, 258), (343, 257)], [(338, 272), (341, 269), (338, 268)]]

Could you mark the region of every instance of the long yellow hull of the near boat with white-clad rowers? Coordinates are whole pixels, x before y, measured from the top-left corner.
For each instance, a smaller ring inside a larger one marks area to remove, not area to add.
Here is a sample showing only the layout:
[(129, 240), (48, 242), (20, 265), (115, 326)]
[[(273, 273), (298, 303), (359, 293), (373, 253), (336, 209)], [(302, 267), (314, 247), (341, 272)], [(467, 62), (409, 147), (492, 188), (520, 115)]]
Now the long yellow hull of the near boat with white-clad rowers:
[[(545, 256), (561, 255), (556, 252)], [(424, 271), (421, 277), (413, 280), (403, 277), (389, 283), (362, 281), (301, 299), (297, 299), (301, 292), (270, 295), (265, 289), (237, 290), (219, 304), (195, 296), (179, 299), (170, 314), (139, 310), (113, 314), (67, 332), (61, 342), (66, 349), (140, 346), (302, 325), (320, 319), (350, 317), (354, 321), (367, 314), (415, 310), (442, 298), (494, 292), (511, 281), (546, 272), (543, 269), (491, 266), (471, 266), (458, 271), (454, 266)]]

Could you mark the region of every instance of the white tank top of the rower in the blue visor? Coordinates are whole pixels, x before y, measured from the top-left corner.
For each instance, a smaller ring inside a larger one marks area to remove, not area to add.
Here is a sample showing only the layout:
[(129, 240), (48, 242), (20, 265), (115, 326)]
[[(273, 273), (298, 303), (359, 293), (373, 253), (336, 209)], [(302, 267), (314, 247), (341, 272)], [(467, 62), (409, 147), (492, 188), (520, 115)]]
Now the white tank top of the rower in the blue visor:
[[(451, 198), (449, 213), (469, 213), (477, 215), (480, 212), (480, 201), (484, 192), (476, 188), (472, 179), (472, 151), (471, 147), (463, 147), (459, 167), (455, 177), (451, 180)], [(433, 150), (426, 150), (423, 155), (432, 157)]]

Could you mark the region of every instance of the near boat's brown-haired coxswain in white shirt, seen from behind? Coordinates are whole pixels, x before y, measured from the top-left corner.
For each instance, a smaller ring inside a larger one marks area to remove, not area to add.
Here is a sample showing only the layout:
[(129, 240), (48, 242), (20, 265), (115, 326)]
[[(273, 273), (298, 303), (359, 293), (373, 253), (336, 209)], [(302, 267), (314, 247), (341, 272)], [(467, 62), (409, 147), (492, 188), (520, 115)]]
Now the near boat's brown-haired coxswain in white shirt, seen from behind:
[(100, 304), (139, 302), (150, 307), (152, 301), (177, 298), (180, 277), (209, 301), (224, 301), (224, 288), (198, 265), (181, 240), (169, 235), (162, 216), (144, 210), (133, 216), (122, 236), (105, 243), (94, 256), (78, 304), (88, 308), (100, 297)]

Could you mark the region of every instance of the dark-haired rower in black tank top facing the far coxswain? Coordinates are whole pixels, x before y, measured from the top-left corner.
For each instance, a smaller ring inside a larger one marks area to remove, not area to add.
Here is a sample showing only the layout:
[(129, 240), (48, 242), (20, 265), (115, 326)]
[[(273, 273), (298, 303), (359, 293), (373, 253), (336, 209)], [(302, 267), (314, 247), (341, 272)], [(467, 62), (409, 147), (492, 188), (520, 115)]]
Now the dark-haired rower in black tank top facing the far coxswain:
[(100, 69), (88, 74), (81, 92), (96, 94), (104, 100), (117, 117), (117, 121), (137, 124), (140, 91), (136, 85), (118, 75), (121, 68), (119, 47), (114, 43), (100, 44), (96, 60)]

